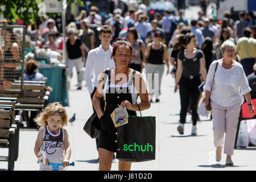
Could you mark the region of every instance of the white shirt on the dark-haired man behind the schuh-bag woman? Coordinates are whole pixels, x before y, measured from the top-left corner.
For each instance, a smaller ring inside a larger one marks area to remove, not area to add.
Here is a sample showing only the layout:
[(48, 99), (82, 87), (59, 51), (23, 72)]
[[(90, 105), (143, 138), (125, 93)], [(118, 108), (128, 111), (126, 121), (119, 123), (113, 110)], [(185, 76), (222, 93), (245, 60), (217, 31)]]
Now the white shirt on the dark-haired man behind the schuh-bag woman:
[(89, 93), (91, 94), (94, 87), (98, 86), (102, 72), (106, 68), (115, 68), (113, 58), (110, 58), (113, 52), (112, 46), (104, 51), (102, 46), (89, 51), (85, 64), (85, 82)]

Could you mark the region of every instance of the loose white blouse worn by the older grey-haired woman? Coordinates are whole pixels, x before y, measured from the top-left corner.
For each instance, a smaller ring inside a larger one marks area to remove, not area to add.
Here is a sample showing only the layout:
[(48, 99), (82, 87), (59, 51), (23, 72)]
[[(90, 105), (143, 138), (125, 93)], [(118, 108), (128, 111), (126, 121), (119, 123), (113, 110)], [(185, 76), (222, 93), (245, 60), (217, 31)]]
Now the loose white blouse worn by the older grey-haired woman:
[[(213, 82), (216, 64), (218, 67)], [(251, 88), (240, 63), (236, 62), (232, 68), (225, 69), (216, 60), (210, 65), (204, 90), (212, 90), (210, 100), (222, 107), (229, 107), (238, 103), (242, 105), (243, 95), (249, 93)]]

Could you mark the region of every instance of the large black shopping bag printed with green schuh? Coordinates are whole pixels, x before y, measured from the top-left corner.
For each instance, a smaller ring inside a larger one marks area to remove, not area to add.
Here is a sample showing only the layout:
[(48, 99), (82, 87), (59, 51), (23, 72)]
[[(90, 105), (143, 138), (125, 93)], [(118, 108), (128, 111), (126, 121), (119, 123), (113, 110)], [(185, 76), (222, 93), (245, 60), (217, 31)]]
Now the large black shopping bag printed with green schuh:
[(155, 117), (129, 116), (126, 125), (117, 127), (117, 159), (125, 162), (155, 159)]

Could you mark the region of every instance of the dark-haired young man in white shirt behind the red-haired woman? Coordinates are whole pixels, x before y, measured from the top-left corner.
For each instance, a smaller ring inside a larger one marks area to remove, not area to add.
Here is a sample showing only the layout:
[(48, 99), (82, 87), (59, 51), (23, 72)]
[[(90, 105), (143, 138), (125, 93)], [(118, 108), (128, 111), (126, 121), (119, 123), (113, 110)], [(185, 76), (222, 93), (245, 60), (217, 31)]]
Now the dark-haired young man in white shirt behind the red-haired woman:
[[(102, 72), (106, 68), (115, 68), (115, 63), (112, 55), (112, 46), (110, 42), (112, 40), (112, 27), (104, 25), (101, 27), (99, 38), (101, 40), (101, 45), (89, 51), (86, 64), (85, 64), (85, 82), (87, 89), (90, 93), (90, 98), (93, 98), (96, 92), (98, 82)], [(93, 107), (93, 111), (94, 107)], [(97, 149), (98, 149), (98, 139), (96, 139)]]

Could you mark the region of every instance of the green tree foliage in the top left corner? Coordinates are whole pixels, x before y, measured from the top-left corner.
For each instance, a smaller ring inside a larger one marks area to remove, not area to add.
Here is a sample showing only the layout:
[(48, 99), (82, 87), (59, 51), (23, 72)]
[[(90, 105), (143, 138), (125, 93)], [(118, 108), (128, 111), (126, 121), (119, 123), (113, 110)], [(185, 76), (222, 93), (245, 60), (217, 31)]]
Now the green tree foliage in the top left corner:
[[(57, 0), (62, 1), (62, 0)], [(0, 1), (0, 14), (3, 17), (15, 22), (20, 18), (24, 21), (24, 24), (31, 24), (31, 20), (35, 21), (38, 16), (38, 3), (43, 0), (1, 0)], [(79, 3), (80, 6), (84, 6), (82, 0), (67, 0), (68, 5), (71, 3)]]

